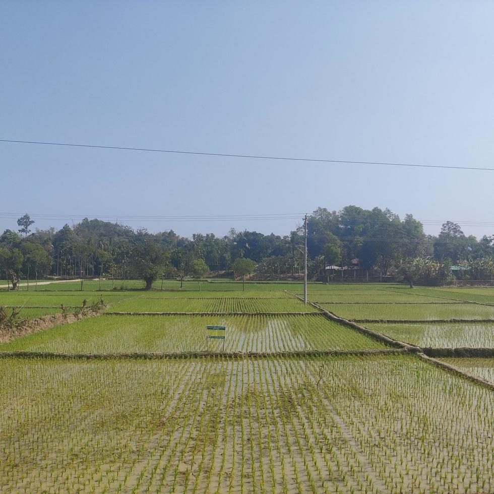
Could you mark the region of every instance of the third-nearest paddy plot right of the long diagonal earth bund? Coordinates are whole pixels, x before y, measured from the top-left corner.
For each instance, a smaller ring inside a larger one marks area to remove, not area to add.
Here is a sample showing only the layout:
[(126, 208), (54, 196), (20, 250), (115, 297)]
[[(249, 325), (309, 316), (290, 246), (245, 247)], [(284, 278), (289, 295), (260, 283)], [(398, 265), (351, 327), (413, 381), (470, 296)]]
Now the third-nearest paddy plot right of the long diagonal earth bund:
[(494, 319), (494, 307), (475, 303), (425, 304), (331, 304), (321, 307), (345, 319), (356, 320), (424, 320)]

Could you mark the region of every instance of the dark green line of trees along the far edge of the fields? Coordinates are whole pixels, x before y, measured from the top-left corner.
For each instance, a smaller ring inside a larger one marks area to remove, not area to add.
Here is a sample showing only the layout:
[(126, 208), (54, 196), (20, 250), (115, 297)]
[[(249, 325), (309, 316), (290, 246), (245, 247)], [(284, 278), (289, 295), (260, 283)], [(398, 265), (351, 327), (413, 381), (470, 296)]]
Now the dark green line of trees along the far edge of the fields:
[[(56, 230), (32, 231), (25, 214), (19, 228), (0, 236), (0, 275), (15, 289), (21, 278), (141, 278), (150, 288), (158, 278), (201, 279), (208, 273), (244, 277), (248, 273), (296, 277), (303, 271), (303, 229), (287, 235), (264, 235), (231, 228), (223, 237), (173, 230), (150, 233), (129, 226), (83, 219)], [(340, 211), (318, 208), (307, 218), (308, 272), (311, 278), (326, 266), (378, 270), (384, 276), (434, 282), (451, 276), (452, 265), (465, 268), (471, 279), (491, 278), (494, 236), (477, 240), (460, 226), (446, 222), (437, 236), (426, 235), (420, 221), (403, 219), (389, 209), (346, 206)]]

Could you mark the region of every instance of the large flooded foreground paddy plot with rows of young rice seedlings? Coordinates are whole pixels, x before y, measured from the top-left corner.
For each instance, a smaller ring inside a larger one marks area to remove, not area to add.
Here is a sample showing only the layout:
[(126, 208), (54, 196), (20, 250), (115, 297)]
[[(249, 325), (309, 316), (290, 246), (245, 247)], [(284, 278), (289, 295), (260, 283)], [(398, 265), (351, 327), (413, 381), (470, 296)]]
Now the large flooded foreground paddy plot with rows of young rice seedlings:
[(412, 356), (3, 359), (0, 374), (2, 492), (494, 488), (492, 393)]

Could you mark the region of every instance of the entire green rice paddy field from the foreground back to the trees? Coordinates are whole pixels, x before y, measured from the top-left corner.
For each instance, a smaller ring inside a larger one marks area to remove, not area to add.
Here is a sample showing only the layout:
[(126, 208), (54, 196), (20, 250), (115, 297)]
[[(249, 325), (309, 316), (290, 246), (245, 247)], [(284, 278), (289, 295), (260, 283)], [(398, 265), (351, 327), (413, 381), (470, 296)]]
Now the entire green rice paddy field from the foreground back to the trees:
[(494, 352), (492, 288), (80, 288), (0, 291), (28, 319), (106, 304), (0, 344), (0, 492), (494, 491), (494, 358), (421, 353)]

